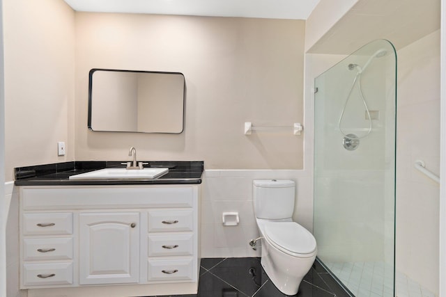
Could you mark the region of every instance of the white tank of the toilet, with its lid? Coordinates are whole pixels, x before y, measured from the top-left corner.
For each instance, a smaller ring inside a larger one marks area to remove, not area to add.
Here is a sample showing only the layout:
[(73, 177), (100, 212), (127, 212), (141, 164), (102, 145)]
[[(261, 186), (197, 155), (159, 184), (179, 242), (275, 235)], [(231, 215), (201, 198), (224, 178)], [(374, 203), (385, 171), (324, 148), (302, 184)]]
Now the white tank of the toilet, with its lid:
[(291, 218), (294, 211), (295, 183), (289, 179), (256, 179), (252, 182), (256, 218)]

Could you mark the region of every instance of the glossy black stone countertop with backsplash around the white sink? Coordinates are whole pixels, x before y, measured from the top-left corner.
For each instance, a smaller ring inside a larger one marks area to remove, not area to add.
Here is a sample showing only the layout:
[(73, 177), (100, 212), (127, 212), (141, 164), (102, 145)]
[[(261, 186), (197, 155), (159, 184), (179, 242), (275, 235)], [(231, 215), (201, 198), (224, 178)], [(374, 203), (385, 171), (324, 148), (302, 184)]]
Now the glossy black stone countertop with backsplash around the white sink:
[(201, 184), (203, 161), (143, 161), (144, 167), (169, 168), (155, 179), (69, 179), (103, 168), (125, 168), (126, 161), (72, 161), (15, 168), (16, 186), (85, 186), (125, 184)]

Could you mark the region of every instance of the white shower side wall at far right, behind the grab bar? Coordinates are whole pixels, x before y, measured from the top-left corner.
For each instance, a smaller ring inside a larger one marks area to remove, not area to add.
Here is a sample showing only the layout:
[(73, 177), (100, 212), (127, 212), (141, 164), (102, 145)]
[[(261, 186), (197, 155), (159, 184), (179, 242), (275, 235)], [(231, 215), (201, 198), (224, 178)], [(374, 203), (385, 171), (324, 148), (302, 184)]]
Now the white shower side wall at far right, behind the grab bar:
[(397, 270), (438, 296), (440, 31), (398, 51)]

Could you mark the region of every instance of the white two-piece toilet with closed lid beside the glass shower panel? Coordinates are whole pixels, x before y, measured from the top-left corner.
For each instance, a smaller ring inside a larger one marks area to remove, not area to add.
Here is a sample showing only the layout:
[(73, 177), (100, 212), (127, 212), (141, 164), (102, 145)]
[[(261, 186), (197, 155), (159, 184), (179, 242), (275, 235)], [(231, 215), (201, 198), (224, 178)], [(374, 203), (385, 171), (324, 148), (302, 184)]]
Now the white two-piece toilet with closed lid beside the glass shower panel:
[(295, 183), (289, 179), (253, 181), (253, 203), (261, 235), (261, 265), (286, 295), (298, 293), (300, 282), (316, 259), (316, 239), (293, 222)]

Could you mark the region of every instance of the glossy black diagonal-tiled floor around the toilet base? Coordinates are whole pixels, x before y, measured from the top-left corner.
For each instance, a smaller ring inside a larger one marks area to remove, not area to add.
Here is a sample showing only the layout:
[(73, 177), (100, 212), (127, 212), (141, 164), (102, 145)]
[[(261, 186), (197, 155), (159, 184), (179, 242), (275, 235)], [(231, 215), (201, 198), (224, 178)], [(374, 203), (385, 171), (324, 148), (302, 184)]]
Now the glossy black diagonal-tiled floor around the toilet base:
[[(283, 297), (286, 295), (272, 284), (261, 267), (260, 258), (206, 258), (201, 259), (198, 293), (181, 296)], [(348, 297), (348, 294), (316, 261), (305, 275), (295, 296)]]

